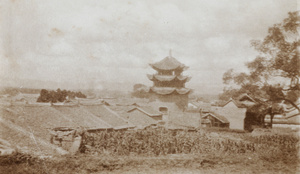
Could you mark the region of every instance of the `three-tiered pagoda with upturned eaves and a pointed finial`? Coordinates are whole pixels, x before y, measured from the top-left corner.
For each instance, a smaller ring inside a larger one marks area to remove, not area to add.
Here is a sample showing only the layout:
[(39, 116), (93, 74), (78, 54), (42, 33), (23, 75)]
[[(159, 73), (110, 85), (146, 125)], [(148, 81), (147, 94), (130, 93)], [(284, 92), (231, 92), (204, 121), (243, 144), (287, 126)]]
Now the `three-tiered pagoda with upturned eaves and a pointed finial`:
[(156, 74), (147, 75), (153, 81), (150, 88), (152, 98), (160, 99), (166, 102), (175, 102), (180, 107), (185, 107), (188, 102), (190, 89), (185, 87), (191, 77), (182, 75), (183, 71), (188, 69), (187, 66), (180, 63), (170, 55), (163, 60), (150, 64), (157, 71)]

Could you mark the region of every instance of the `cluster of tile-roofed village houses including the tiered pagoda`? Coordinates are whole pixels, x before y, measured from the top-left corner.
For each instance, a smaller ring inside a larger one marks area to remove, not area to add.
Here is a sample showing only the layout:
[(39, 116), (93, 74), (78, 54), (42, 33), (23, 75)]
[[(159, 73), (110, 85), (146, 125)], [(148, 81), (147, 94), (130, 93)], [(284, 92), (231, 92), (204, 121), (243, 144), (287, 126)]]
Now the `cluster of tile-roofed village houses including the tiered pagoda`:
[[(153, 81), (147, 91), (149, 98), (76, 98), (68, 103), (50, 104), (28, 101), (26, 94), (19, 94), (9, 102), (5, 102), (7, 96), (2, 96), (0, 126), (7, 135), (4, 139), (14, 137), (10, 141), (20, 146), (36, 147), (31, 140), (34, 136), (39, 139), (39, 148), (57, 145), (76, 152), (82, 131), (150, 127), (172, 131), (195, 131), (201, 127), (244, 130), (251, 127), (246, 119), (247, 108), (256, 104), (251, 96), (243, 94), (218, 106), (189, 99), (192, 90), (186, 88), (186, 83), (191, 77), (183, 75), (187, 66), (171, 53), (150, 66), (156, 73), (147, 75)], [(295, 109), (287, 108), (285, 113), (276, 115), (274, 123), (300, 124), (300, 115)]]

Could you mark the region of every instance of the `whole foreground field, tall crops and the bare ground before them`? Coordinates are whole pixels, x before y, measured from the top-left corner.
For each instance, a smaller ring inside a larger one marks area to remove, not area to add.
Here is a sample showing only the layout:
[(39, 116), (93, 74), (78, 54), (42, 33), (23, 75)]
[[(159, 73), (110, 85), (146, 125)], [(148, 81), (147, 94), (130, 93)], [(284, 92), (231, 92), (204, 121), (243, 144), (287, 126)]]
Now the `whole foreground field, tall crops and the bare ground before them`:
[[(176, 145), (172, 145), (172, 144)], [(85, 136), (75, 156), (2, 157), (4, 173), (297, 173), (297, 133), (143, 130)]]

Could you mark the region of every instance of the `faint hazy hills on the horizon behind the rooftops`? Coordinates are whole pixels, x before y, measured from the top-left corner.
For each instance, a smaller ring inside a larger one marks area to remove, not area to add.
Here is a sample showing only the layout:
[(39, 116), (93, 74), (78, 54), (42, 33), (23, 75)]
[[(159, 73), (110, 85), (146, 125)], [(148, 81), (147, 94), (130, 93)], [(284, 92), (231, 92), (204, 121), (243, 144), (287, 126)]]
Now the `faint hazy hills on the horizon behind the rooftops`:
[[(124, 82), (110, 82), (110, 81), (90, 81), (90, 82), (54, 82), (33, 79), (9, 79), (0, 78), (0, 88), (18, 89), (22, 93), (39, 93), (41, 89), (56, 90), (67, 89), (72, 91), (82, 91), (88, 96), (97, 97), (124, 97), (133, 91), (135, 83)], [(143, 83), (146, 86), (151, 86), (150, 82)], [(204, 101), (211, 102), (218, 99), (218, 94), (213, 91), (207, 90), (208, 86), (191, 86), (194, 92), (190, 98), (200, 98)], [(3, 90), (2, 90), (3, 91)], [(1, 91), (0, 91), (1, 92)], [(207, 93), (206, 93), (207, 92)]]

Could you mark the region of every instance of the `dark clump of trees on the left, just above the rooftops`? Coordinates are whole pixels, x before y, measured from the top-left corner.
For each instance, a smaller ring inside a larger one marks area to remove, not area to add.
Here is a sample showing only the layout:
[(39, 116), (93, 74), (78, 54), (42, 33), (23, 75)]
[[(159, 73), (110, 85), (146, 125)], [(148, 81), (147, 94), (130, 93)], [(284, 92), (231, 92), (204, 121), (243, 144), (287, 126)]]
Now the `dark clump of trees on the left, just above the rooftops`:
[(37, 102), (42, 103), (57, 103), (57, 102), (64, 102), (67, 99), (74, 99), (77, 98), (86, 98), (86, 95), (81, 93), (80, 91), (74, 92), (70, 90), (61, 90), (58, 88), (56, 91), (54, 90), (46, 90), (42, 89), (40, 92), (40, 96), (37, 99)]

